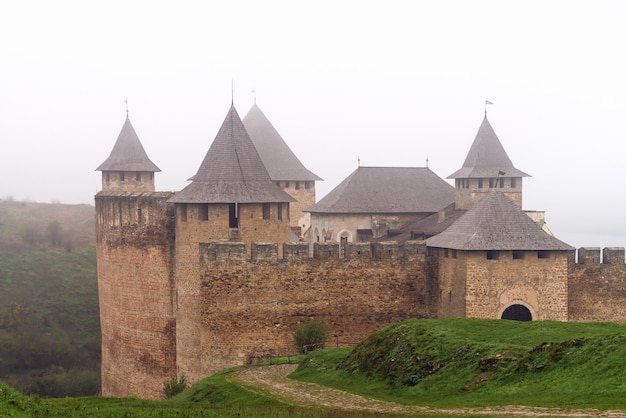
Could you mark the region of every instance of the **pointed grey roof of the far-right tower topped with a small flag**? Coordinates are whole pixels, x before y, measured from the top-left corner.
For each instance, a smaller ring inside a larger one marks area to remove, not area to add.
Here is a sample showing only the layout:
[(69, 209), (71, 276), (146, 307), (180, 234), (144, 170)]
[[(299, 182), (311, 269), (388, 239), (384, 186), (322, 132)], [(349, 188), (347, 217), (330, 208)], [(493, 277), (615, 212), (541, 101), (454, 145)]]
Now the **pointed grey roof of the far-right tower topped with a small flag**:
[(449, 179), (474, 177), (529, 177), (513, 167), (486, 114), (463, 167), (448, 176)]

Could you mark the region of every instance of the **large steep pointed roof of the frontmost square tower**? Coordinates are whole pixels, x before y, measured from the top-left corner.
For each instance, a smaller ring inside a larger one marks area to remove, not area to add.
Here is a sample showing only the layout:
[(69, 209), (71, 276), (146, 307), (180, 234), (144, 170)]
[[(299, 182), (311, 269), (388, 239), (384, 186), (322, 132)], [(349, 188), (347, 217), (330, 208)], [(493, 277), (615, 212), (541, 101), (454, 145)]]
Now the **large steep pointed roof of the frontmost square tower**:
[(174, 203), (293, 202), (270, 179), (246, 129), (231, 106), (191, 184)]

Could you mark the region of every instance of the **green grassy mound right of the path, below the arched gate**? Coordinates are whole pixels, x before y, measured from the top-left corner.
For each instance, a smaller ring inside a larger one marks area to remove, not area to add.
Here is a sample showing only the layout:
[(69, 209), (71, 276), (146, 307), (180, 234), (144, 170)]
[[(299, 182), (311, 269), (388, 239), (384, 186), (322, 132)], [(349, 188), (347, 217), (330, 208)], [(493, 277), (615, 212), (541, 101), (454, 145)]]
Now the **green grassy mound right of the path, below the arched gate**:
[(420, 320), (294, 377), (401, 403), (626, 409), (626, 325)]

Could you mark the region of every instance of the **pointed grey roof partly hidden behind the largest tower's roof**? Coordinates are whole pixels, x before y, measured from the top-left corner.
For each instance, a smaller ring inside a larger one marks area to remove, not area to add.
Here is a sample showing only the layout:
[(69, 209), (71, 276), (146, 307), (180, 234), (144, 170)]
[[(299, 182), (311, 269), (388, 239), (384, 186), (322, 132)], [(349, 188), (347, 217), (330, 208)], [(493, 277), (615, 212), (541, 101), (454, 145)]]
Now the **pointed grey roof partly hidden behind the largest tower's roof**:
[(243, 118), (243, 125), (272, 180), (321, 180), (302, 165), (256, 103)]

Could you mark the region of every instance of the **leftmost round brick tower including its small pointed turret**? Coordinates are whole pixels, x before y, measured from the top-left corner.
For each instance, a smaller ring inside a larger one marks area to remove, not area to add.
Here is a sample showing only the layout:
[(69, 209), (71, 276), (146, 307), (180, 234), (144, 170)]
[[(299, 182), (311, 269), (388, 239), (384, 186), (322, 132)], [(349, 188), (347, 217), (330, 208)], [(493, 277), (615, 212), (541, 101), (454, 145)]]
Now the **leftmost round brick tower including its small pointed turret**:
[[(128, 117), (97, 170), (95, 196), (102, 394), (154, 398), (176, 375), (172, 193), (154, 191), (159, 168)], [(156, 395), (155, 395), (156, 394)]]

